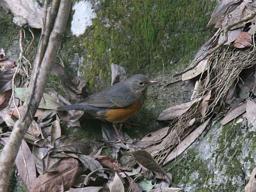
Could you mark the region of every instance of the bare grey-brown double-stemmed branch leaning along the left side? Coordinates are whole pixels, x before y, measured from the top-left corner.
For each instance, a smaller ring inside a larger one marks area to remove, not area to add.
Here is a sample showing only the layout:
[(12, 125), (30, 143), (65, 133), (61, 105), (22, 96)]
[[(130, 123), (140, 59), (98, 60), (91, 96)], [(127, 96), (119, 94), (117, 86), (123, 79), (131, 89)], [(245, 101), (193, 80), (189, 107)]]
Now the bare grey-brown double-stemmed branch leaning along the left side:
[[(56, 59), (63, 31), (66, 28), (72, 1), (56, 0), (52, 2), (48, 22), (46, 23), (44, 20), (46, 27), (42, 30), (40, 37), (36, 61), (29, 83), (29, 96), (25, 109), (20, 119), (15, 123), (9, 140), (1, 153), (0, 192), (7, 190), (11, 168), (20, 148), (21, 140), (36, 113), (51, 72), (52, 64)], [(47, 0), (45, 1), (45, 7), (47, 8)], [(44, 19), (46, 19), (46, 16)]]

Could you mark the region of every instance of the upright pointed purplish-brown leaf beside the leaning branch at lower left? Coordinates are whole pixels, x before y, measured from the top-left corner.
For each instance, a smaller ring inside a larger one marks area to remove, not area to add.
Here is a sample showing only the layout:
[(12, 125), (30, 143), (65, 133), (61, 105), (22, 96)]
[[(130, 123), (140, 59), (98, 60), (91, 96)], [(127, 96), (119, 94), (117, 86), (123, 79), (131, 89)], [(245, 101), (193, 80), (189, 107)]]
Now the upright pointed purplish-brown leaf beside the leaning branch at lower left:
[(32, 184), (36, 180), (36, 165), (30, 148), (25, 140), (21, 141), (21, 146), (15, 159), (15, 165), (21, 180), (26, 184), (28, 191), (30, 191)]

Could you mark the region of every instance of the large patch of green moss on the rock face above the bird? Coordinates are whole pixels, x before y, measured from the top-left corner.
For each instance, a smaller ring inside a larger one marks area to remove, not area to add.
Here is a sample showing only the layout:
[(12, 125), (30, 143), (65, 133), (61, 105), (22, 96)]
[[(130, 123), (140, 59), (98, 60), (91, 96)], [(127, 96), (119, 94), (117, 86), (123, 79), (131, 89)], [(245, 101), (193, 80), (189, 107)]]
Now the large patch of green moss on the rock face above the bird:
[[(156, 74), (185, 68), (205, 40), (215, 1), (106, 0), (84, 35), (68, 37), (64, 50), (84, 57), (84, 78), (91, 89), (110, 85), (110, 64), (129, 74)], [(75, 47), (73, 47), (75, 45)], [(68, 56), (67, 56), (68, 57)], [(171, 64), (175, 62), (176, 64)]]

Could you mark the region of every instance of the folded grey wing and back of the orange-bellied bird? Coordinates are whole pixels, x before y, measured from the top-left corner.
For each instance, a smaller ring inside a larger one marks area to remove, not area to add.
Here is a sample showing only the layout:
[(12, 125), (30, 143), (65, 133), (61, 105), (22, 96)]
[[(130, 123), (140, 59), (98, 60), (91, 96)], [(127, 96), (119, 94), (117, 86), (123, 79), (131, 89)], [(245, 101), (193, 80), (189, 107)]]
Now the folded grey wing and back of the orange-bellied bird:
[(135, 99), (136, 96), (132, 91), (121, 82), (104, 91), (92, 94), (86, 103), (95, 107), (119, 108), (132, 105)]

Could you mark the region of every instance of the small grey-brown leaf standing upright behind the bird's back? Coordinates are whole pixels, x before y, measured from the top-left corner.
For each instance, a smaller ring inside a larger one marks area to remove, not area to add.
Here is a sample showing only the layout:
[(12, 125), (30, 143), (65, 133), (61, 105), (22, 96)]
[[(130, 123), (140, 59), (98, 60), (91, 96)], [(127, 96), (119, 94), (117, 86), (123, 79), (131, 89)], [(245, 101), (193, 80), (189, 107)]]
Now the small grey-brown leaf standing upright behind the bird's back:
[(123, 67), (111, 63), (111, 86), (126, 79), (126, 73)]

